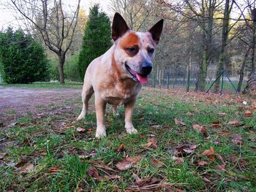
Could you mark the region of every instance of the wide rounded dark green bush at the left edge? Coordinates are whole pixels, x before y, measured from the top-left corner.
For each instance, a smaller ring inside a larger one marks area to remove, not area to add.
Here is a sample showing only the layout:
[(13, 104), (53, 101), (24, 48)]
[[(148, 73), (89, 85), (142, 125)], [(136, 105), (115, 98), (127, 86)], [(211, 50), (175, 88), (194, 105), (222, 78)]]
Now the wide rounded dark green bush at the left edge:
[(7, 83), (29, 83), (48, 80), (45, 50), (23, 31), (0, 32), (1, 75)]

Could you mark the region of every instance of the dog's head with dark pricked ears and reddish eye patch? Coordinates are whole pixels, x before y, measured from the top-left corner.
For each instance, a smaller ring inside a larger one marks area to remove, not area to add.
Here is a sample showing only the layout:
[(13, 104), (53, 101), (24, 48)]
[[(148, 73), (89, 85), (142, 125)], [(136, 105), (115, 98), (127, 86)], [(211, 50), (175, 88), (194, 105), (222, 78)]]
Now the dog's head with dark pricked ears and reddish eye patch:
[(114, 58), (123, 77), (148, 82), (163, 23), (164, 20), (159, 20), (148, 31), (136, 32), (130, 30), (124, 18), (116, 12), (112, 25), (112, 39), (116, 46)]

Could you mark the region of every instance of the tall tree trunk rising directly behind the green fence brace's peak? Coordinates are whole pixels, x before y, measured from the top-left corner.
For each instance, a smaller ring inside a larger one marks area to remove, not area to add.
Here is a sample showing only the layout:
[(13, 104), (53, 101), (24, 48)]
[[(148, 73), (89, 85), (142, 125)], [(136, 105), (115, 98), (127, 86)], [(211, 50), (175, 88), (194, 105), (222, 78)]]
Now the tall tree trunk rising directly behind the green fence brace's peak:
[[(231, 6), (232, 7), (232, 6)], [(222, 24), (222, 47), (219, 54), (219, 62), (218, 62), (218, 69), (216, 73), (216, 78), (224, 69), (224, 60), (225, 60), (225, 47), (227, 46), (227, 38), (228, 38), (228, 23), (230, 18), (230, 0), (226, 0), (225, 2), (225, 12), (224, 12), (224, 19)], [(219, 82), (220, 78), (215, 82), (214, 85), (214, 92), (219, 93)]]

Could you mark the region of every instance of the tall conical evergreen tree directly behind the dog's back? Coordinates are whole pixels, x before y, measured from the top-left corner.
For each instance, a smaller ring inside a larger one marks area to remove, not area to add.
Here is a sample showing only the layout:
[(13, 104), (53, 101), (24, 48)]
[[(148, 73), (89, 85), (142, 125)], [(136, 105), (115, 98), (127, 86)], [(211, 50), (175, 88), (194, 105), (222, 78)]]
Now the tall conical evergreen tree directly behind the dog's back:
[(83, 36), (83, 47), (78, 60), (82, 80), (91, 61), (105, 53), (111, 45), (110, 19), (105, 12), (99, 11), (99, 4), (95, 4), (90, 9)]

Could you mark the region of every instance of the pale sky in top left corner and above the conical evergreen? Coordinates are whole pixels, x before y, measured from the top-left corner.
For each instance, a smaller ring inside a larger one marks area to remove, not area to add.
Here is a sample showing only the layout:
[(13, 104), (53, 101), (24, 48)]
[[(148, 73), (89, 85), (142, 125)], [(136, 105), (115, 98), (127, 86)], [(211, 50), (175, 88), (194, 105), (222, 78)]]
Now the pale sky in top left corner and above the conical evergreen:
[[(64, 0), (69, 1), (70, 0)], [(75, 1), (75, 0), (71, 0)], [(109, 11), (108, 5), (110, 4), (110, 0), (81, 0), (80, 7), (86, 10), (86, 14), (89, 14), (89, 7), (94, 3), (99, 3), (102, 10), (107, 14), (111, 14)], [(13, 26), (14, 28), (18, 28), (20, 26), (20, 22), (15, 19), (15, 13), (7, 8), (10, 4), (10, 0), (1, 0), (0, 2), (0, 30), (1, 28), (7, 28), (8, 26)]]

